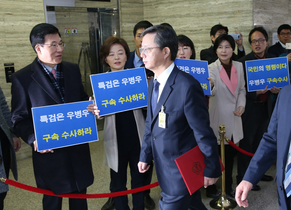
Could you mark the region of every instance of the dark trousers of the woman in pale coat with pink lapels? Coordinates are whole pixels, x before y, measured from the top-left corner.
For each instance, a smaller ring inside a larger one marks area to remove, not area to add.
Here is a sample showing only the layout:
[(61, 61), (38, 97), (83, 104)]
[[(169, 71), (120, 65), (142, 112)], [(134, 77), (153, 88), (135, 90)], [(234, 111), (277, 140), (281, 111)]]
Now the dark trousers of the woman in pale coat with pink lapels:
[[(218, 145), (219, 156), (221, 155), (221, 146)], [(232, 169), (234, 163), (234, 157), (236, 156), (236, 150), (229, 144), (224, 145), (224, 168), (225, 168), (225, 192), (230, 193), (232, 190)], [(216, 189), (216, 185), (210, 185), (206, 187), (208, 193), (213, 192)], [(216, 190), (215, 190), (216, 191)]]

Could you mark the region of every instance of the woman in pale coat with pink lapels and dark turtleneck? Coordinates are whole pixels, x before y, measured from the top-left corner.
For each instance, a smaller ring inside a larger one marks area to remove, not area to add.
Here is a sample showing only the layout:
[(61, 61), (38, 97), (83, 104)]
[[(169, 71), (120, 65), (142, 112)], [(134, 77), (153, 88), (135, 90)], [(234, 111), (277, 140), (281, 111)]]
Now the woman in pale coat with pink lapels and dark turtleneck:
[[(211, 96), (209, 98), (210, 126), (216, 137), (219, 138), (219, 125), (225, 125), (225, 136), (236, 144), (243, 138), (241, 115), (244, 112), (246, 102), (244, 70), (240, 62), (231, 59), (235, 50), (235, 41), (232, 36), (220, 35), (214, 41), (213, 50), (218, 59), (208, 65), (208, 79), (211, 85)], [(225, 192), (234, 198), (232, 168), (236, 150), (226, 142), (225, 144)], [(220, 149), (220, 146), (218, 148)]]

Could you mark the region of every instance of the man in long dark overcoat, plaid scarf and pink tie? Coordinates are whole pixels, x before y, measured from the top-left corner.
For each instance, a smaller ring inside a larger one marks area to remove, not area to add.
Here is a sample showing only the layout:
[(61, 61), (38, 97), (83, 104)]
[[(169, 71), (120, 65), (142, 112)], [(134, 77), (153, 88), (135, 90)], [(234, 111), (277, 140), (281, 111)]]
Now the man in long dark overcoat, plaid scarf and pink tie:
[[(48, 23), (33, 27), (30, 42), (35, 60), (11, 76), (11, 107), (14, 131), (32, 147), (38, 188), (55, 194), (85, 194), (93, 184), (89, 144), (37, 152), (32, 107), (88, 100), (79, 66), (62, 61), (65, 43), (58, 29)], [(44, 195), (43, 209), (61, 209), (62, 198)], [(88, 209), (86, 199), (69, 199), (71, 209)]]

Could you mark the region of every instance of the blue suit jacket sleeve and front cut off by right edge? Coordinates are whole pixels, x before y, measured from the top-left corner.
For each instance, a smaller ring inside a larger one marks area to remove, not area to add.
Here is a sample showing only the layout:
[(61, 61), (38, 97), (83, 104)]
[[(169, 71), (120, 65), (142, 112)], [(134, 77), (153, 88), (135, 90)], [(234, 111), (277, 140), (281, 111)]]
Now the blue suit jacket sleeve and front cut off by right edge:
[(291, 118), (287, 114), (291, 109), (290, 92), (291, 85), (286, 85), (280, 90), (268, 132), (263, 135), (243, 178), (255, 186), (277, 158), (278, 202), (279, 208), (282, 210), (287, 209), (283, 181), (291, 139)]

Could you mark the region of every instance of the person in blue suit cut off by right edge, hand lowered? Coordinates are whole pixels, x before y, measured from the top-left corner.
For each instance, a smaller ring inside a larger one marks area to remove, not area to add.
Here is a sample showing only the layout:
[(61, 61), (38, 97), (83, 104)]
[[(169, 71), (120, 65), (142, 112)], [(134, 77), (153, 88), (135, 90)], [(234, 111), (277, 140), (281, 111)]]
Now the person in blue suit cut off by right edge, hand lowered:
[(236, 188), (235, 199), (239, 206), (248, 206), (247, 193), (253, 186), (256, 186), (277, 159), (276, 177), (279, 209), (291, 209), (291, 118), (288, 114), (291, 109), (290, 92), (291, 85), (286, 85), (280, 90), (268, 132), (263, 135), (261, 143), (244, 174), (243, 181)]

